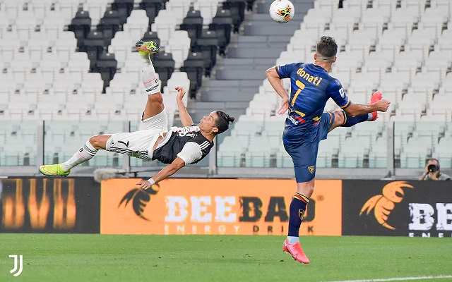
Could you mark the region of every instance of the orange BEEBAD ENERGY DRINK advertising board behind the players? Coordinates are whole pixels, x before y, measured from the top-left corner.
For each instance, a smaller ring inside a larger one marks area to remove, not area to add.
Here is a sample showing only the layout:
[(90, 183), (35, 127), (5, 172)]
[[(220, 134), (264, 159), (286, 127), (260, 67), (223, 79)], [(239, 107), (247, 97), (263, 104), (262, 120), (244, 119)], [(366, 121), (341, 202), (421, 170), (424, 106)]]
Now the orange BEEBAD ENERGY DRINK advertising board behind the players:
[[(286, 235), (294, 180), (139, 179), (102, 181), (102, 234)], [(341, 180), (316, 181), (303, 235), (341, 235)]]

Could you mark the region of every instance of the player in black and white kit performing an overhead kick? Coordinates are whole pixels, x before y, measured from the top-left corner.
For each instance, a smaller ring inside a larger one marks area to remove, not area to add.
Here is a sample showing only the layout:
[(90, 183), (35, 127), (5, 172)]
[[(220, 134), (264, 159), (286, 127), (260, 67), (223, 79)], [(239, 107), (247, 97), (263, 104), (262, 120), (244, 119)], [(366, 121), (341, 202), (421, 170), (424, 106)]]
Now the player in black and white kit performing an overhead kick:
[(81, 149), (71, 159), (62, 164), (40, 166), (40, 172), (45, 176), (68, 176), (71, 168), (93, 158), (99, 149), (109, 152), (128, 154), (141, 159), (157, 159), (168, 164), (155, 176), (142, 180), (137, 184), (142, 189), (172, 176), (187, 164), (194, 164), (210, 152), (215, 135), (223, 133), (234, 118), (222, 111), (213, 111), (204, 116), (198, 125), (194, 125), (191, 116), (182, 102), (185, 90), (176, 87), (177, 107), (183, 128), (172, 127), (168, 130), (168, 119), (163, 104), (160, 82), (150, 55), (160, 47), (155, 42), (136, 43), (136, 49), (141, 55), (142, 79), (148, 94), (141, 123), (138, 131), (132, 133), (116, 133), (112, 135), (95, 135), (90, 137)]

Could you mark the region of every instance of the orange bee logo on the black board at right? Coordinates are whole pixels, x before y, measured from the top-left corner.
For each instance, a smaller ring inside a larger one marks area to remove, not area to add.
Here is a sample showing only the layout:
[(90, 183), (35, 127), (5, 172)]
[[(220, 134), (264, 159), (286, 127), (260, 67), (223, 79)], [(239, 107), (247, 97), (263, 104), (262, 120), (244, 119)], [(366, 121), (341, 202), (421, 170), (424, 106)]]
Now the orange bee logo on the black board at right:
[(373, 209), (375, 219), (376, 221), (378, 221), (378, 223), (388, 229), (396, 229), (393, 226), (389, 225), (387, 221), (388, 216), (391, 214), (391, 211), (394, 209), (394, 207), (396, 207), (396, 204), (402, 202), (403, 200), (405, 193), (403, 192), (402, 188), (413, 187), (405, 181), (393, 181), (386, 184), (383, 187), (383, 190), (381, 190), (381, 195), (376, 195), (367, 200), (364, 206), (362, 206), (359, 215), (362, 215), (364, 212), (366, 212), (366, 214), (369, 214)]

